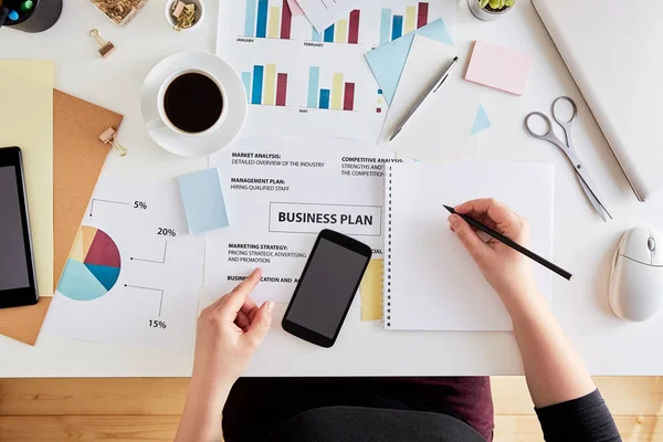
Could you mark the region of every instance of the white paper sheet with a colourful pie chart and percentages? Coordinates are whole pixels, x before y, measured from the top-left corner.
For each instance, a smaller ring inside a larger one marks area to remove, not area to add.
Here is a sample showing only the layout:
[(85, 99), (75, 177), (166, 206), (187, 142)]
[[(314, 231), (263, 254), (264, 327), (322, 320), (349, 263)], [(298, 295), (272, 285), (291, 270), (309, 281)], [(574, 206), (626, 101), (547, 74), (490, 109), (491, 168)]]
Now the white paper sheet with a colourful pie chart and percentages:
[(191, 352), (203, 260), (204, 235), (188, 233), (175, 179), (103, 177), (44, 333)]

